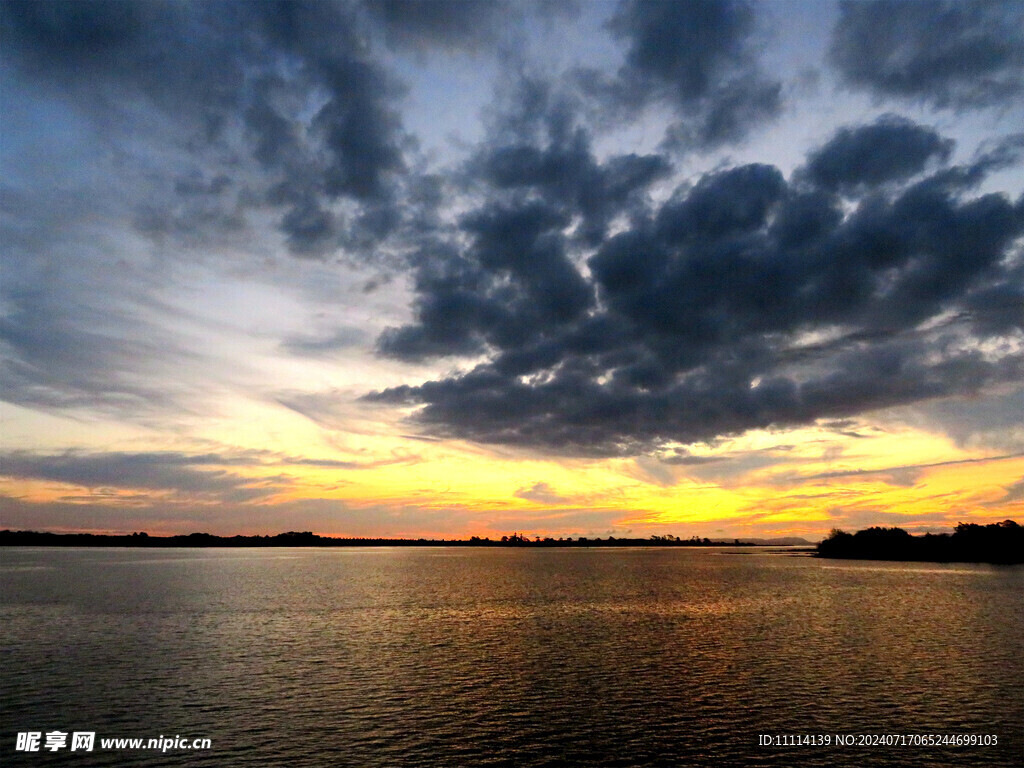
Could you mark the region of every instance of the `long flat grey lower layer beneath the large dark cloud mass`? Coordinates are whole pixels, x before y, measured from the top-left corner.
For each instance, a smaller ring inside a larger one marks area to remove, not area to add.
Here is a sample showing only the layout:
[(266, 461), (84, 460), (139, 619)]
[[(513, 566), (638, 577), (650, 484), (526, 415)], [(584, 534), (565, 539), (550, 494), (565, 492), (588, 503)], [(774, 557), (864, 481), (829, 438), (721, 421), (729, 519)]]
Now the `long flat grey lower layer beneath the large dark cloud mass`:
[(1024, 375), (1019, 358), (994, 365), (980, 355), (955, 355), (933, 365), (930, 356), (928, 345), (912, 352), (877, 349), (847, 355), (837, 361), (835, 372), (805, 382), (779, 373), (757, 386), (751, 380), (757, 379), (760, 367), (709, 367), (654, 390), (562, 372), (530, 384), (484, 368), (419, 387), (385, 390), (371, 399), (427, 403), (417, 420), (435, 435), (608, 456), (977, 391)]

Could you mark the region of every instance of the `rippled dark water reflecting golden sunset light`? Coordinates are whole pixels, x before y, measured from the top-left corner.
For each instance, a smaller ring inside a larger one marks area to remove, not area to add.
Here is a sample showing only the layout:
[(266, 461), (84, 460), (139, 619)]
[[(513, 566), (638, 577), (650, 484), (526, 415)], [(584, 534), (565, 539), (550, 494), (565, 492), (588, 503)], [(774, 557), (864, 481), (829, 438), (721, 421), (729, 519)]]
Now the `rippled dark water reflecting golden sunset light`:
[(0, 762), (1024, 765), (1024, 568), (745, 552), (6, 549)]

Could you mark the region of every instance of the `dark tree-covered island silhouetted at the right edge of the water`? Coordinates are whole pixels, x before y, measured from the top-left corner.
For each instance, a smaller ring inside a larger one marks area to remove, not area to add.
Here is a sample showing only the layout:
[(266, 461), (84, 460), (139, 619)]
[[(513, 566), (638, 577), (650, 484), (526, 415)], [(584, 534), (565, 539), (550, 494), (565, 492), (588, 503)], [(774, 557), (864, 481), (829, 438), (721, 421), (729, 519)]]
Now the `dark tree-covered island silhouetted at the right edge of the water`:
[(989, 525), (959, 523), (952, 534), (911, 536), (872, 526), (856, 534), (834, 529), (818, 544), (818, 557), (856, 560), (1024, 563), (1024, 527), (1014, 520)]

